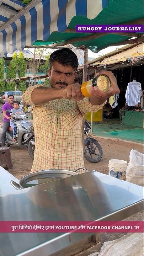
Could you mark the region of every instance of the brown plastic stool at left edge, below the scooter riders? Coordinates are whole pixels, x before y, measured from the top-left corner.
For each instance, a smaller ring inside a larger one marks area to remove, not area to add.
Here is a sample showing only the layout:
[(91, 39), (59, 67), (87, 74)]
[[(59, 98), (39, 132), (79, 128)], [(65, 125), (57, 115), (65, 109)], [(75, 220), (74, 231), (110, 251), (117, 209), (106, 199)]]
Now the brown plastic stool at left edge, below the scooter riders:
[(12, 169), (11, 153), (9, 147), (0, 147), (0, 165), (5, 164), (9, 169)]

